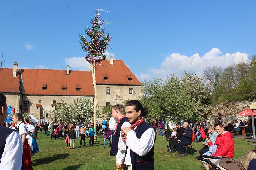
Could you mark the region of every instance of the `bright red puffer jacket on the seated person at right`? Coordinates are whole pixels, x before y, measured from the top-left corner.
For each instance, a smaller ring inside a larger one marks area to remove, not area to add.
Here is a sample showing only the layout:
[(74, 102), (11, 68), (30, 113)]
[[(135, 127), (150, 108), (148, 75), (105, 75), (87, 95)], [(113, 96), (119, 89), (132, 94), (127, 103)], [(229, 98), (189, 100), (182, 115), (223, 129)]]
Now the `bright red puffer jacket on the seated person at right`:
[[(218, 146), (218, 149), (212, 156), (226, 156), (233, 158), (235, 145), (233, 135), (229, 131), (223, 135), (218, 135), (214, 144)], [(212, 141), (208, 142), (208, 145), (212, 146)]]

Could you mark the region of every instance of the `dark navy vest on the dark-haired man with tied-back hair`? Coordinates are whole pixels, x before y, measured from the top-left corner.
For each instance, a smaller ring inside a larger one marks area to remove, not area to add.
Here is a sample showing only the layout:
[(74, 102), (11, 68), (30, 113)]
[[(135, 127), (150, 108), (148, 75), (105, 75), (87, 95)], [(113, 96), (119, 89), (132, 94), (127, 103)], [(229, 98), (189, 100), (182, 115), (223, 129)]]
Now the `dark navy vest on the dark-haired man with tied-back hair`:
[[(138, 139), (141, 138), (141, 135), (151, 128), (149, 124), (143, 121), (137, 126), (134, 130)], [(155, 138), (156, 140), (156, 138)], [(154, 140), (154, 143), (155, 143)], [(154, 169), (154, 145), (151, 150), (145, 156), (139, 156), (130, 149), (132, 170), (153, 170)]]

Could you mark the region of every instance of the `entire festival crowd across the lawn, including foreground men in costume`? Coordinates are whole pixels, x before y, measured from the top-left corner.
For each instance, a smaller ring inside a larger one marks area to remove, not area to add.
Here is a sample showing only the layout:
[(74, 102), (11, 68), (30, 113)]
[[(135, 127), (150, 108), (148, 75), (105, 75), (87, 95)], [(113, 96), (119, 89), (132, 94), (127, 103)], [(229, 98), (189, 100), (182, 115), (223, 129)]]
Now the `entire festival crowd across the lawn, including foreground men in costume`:
[[(147, 113), (147, 108), (139, 101), (131, 100), (125, 107), (120, 104), (113, 106), (109, 122), (103, 121), (100, 124), (97, 121), (96, 128), (93, 123), (82, 123), (79, 120), (72, 124), (57, 121), (48, 124), (41, 121), (43, 119), (40, 119), (39, 123), (33, 123), (19, 113), (13, 114), (12, 123), (4, 124), (7, 116), (6, 97), (0, 93), (0, 169), (33, 169), (31, 156), (39, 152), (35, 142), (38, 129), (40, 133), (44, 129), (44, 134), (50, 135), (51, 140), (65, 138), (67, 149), (75, 149), (76, 138), (80, 138), (80, 145), (83, 142), (85, 146), (85, 137), (88, 137), (89, 146), (93, 146), (94, 140), (97, 141), (97, 134), (103, 133), (103, 148), (106, 148), (108, 140), (110, 156), (116, 158), (113, 168), (118, 170), (153, 170), (155, 134), (165, 136), (170, 146), (167, 152), (177, 152), (175, 155), (179, 157), (186, 156), (184, 146), (203, 141), (199, 154), (220, 157), (209, 160), (217, 166), (224, 167), (229, 166), (235, 149), (230, 129), (239, 131), (239, 126), (248, 129), (250, 127), (250, 122), (245, 120), (240, 123), (236, 120), (233, 123), (226, 123), (219, 114), (212, 123), (178, 122), (176, 128), (170, 130), (168, 127), (165, 128), (164, 119), (155, 120), (151, 124), (146, 123), (142, 117)], [(256, 167), (255, 159), (256, 150), (250, 150), (237, 159), (236, 164), (245, 170), (253, 170), (252, 167)], [(206, 170), (212, 168), (208, 162), (201, 162)]]

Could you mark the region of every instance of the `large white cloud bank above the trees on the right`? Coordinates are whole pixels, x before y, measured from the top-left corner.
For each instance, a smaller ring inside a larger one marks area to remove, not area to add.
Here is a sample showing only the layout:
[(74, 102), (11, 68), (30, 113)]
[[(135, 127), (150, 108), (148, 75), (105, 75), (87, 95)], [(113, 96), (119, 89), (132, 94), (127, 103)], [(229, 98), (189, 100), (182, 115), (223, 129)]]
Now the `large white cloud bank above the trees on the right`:
[(248, 56), (248, 54), (240, 52), (222, 55), (222, 52), (218, 48), (212, 48), (212, 50), (205, 53), (202, 57), (200, 57), (198, 53), (192, 56), (172, 53), (166, 56), (160, 68), (151, 68), (147, 70), (147, 74), (142, 73), (138, 77), (140, 80), (149, 80), (152, 77), (166, 79), (166, 77), (172, 73), (182, 75), (184, 74), (184, 70), (200, 74), (209, 66), (226, 68), (228, 65), (240, 61), (249, 62)]

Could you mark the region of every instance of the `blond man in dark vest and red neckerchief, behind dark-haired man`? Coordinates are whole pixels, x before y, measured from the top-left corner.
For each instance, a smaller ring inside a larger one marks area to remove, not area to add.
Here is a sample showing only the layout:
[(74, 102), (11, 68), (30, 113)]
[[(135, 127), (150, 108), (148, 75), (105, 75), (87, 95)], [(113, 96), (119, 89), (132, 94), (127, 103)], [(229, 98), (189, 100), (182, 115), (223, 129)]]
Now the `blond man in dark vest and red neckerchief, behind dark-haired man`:
[[(124, 164), (124, 157), (125, 157), (125, 152), (126, 152), (126, 145), (122, 141), (120, 131), (123, 127), (130, 127), (130, 123), (128, 122), (128, 119), (124, 115), (124, 106), (121, 104), (116, 104), (115, 106), (112, 107), (112, 114), (111, 116), (113, 119), (118, 120), (117, 123), (116, 121), (113, 121), (111, 119), (109, 126), (111, 129), (115, 127), (114, 130), (114, 136), (112, 138), (112, 145), (110, 149), (110, 156), (116, 156), (116, 169), (121, 170), (123, 169), (123, 164)], [(122, 149), (121, 151), (118, 148), (125, 148)]]

